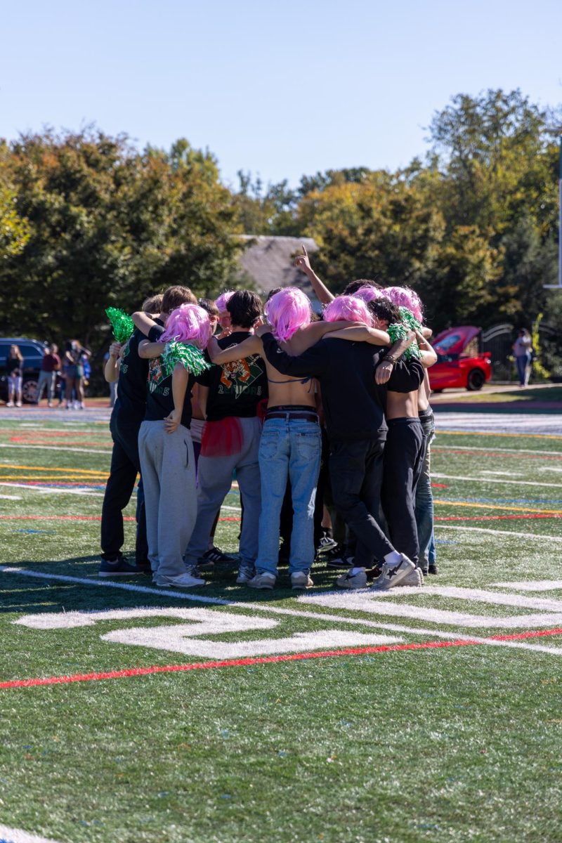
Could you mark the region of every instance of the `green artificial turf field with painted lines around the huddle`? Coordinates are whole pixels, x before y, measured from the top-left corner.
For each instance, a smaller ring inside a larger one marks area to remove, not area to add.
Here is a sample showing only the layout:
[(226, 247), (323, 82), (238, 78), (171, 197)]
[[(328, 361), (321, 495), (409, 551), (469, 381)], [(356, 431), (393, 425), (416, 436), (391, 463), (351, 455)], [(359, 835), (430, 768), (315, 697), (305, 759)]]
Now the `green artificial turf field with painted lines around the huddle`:
[[(439, 433), (421, 591), (336, 593), (319, 565), (300, 596), (233, 567), (181, 593), (97, 577), (98, 417), (0, 419), (0, 824), (58, 843), (562, 840), (562, 437)], [(235, 486), (225, 503), (234, 551)]]

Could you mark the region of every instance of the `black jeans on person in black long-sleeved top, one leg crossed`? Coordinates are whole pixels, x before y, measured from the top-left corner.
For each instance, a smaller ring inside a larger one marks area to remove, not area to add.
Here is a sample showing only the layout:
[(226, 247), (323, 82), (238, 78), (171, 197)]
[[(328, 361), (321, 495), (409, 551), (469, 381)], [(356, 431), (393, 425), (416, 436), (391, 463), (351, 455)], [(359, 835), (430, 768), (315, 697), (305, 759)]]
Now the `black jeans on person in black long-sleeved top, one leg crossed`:
[(357, 567), (371, 567), (394, 550), (379, 523), (383, 451), (383, 438), (330, 443), (332, 495), (345, 524), (356, 534)]

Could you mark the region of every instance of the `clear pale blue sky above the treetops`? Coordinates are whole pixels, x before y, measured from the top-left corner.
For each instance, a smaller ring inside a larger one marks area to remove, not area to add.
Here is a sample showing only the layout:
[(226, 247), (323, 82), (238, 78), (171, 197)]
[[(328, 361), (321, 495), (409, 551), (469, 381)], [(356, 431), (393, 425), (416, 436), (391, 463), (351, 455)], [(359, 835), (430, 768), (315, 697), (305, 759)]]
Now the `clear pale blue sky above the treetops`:
[(562, 102), (560, 0), (4, 0), (0, 37), (0, 137), (187, 137), (231, 184), (407, 164), (461, 92)]

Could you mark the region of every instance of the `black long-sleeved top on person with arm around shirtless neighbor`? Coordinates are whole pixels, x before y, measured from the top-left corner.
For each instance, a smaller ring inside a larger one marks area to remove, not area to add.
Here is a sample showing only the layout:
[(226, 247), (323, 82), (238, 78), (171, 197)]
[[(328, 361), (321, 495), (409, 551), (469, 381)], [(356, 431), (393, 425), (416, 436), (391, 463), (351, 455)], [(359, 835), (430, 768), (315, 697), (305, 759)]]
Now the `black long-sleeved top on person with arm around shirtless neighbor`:
[(262, 336), (265, 355), (279, 372), (316, 376), (322, 387), (326, 430), (330, 439), (353, 441), (385, 438), (387, 388), (394, 392), (419, 389), (424, 369), (417, 361), (399, 360), (388, 384), (375, 383), (375, 369), (388, 348), (368, 342), (323, 339), (298, 357), (282, 351), (272, 334)]

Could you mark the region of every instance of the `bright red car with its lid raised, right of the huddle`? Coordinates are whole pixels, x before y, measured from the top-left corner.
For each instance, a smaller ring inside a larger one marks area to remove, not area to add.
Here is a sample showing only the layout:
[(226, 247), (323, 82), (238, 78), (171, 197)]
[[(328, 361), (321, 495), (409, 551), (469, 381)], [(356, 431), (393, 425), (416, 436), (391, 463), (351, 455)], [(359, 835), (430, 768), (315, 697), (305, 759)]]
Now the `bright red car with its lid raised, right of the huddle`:
[(480, 352), (480, 329), (474, 325), (447, 328), (432, 342), (437, 362), (429, 370), (431, 389), (482, 389), (492, 376), (490, 352)]

